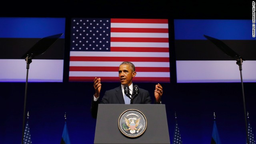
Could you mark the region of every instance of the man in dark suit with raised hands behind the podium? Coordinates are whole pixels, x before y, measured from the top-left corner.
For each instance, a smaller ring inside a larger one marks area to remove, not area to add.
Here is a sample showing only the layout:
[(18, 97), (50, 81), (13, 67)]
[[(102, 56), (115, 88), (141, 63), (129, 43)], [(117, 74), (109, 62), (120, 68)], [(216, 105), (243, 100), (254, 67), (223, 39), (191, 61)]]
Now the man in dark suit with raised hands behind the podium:
[[(117, 88), (112, 90), (107, 90), (102, 97), (101, 101), (100, 98), (100, 90), (101, 90), (101, 83), (100, 78), (94, 78), (94, 89), (95, 94), (92, 98), (92, 105), (91, 105), (91, 114), (93, 118), (97, 117), (98, 112), (98, 104), (130, 104), (129, 98), (124, 94), (124, 86), (128, 85), (130, 94), (132, 94), (133, 84), (132, 78), (136, 76), (135, 66), (132, 62), (122, 62), (119, 66), (119, 79), (121, 85)], [(163, 88), (160, 84), (156, 85), (154, 96), (155, 101), (154, 104), (161, 103), (161, 97), (163, 94)], [(128, 98), (128, 100), (126, 100)], [(133, 100), (133, 104), (151, 104), (152, 100), (150, 98), (150, 94), (148, 90), (144, 90), (139, 88), (139, 94)]]

